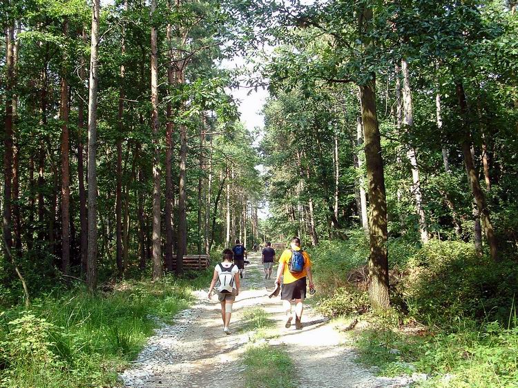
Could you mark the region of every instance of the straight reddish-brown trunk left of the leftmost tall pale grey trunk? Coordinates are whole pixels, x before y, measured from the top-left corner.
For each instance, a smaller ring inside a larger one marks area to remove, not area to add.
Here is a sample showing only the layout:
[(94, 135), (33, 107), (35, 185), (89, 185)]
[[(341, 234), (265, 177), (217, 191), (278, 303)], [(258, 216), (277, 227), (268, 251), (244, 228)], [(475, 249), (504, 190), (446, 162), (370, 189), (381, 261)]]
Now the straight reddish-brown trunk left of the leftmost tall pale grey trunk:
[[(65, 37), (68, 35), (68, 21), (63, 26)], [(70, 272), (70, 162), (68, 158), (68, 80), (66, 68), (61, 75), (61, 271)]]

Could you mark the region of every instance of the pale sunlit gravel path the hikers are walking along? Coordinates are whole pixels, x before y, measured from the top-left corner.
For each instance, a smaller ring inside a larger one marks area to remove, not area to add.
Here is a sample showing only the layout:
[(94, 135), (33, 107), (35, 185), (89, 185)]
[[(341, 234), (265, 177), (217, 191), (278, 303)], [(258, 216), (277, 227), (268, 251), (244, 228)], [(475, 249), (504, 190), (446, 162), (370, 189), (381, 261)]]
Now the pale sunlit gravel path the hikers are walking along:
[[(409, 378), (376, 377), (372, 370), (356, 364), (354, 349), (347, 346), (347, 338), (311, 309), (306, 309), (303, 316), (303, 330), (295, 331), (294, 326), (285, 329), (280, 298), (267, 297), (274, 280), (263, 278), (258, 255), (249, 255), (249, 259), (247, 278), (242, 280), (242, 291), (234, 304), (231, 329), (238, 329), (246, 309), (265, 309), (276, 320), (280, 332), (269, 344), (288, 351), (298, 372), (298, 387), (410, 385)], [(206, 291), (197, 291), (196, 295), (198, 304), (178, 314), (175, 324), (161, 324), (137, 360), (120, 376), (126, 387), (244, 387), (241, 359), (249, 333), (224, 335), (217, 298), (207, 300)], [(232, 382), (229, 382), (229, 371), (234, 376)]]

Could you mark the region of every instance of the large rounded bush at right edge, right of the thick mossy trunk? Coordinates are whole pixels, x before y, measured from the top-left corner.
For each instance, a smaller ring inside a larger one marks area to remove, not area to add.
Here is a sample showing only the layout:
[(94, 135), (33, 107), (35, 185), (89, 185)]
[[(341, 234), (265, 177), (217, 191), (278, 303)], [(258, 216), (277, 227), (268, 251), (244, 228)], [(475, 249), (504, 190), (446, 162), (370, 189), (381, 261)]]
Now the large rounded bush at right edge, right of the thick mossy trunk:
[(505, 322), (518, 291), (518, 266), (478, 258), (472, 244), (432, 240), (408, 263), (401, 293), (410, 314), (428, 323), (459, 318)]

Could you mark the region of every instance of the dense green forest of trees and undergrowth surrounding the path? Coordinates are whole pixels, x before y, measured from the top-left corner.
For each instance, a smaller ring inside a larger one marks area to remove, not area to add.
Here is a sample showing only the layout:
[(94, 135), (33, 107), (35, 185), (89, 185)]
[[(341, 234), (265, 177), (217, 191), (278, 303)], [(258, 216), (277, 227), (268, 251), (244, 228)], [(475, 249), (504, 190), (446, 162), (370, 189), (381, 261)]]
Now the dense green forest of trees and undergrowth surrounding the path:
[(3, 1), (0, 387), (117, 386), (184, 256), (292, 236), (359, 362), (516, 386), (516, 8)]

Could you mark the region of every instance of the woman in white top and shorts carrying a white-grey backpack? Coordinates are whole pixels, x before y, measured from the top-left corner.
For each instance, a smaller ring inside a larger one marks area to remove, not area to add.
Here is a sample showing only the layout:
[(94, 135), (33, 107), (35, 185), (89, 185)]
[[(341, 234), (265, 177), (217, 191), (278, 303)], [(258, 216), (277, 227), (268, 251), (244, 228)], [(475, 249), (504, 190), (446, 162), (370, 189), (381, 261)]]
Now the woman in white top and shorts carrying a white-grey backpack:
[(216, 264), (209, 288), (209, 299), (212, 297), (212, 290), (219, 280), (218, 300), (221, 302), (221, 318), (223, 320), (223, 331), (230, 334), (229, 324), (232, 315), (232, 304), (239, 295), (238, 266), (233, 264), (233, 252), (230, 249), (223, 251), (223, 261)]

